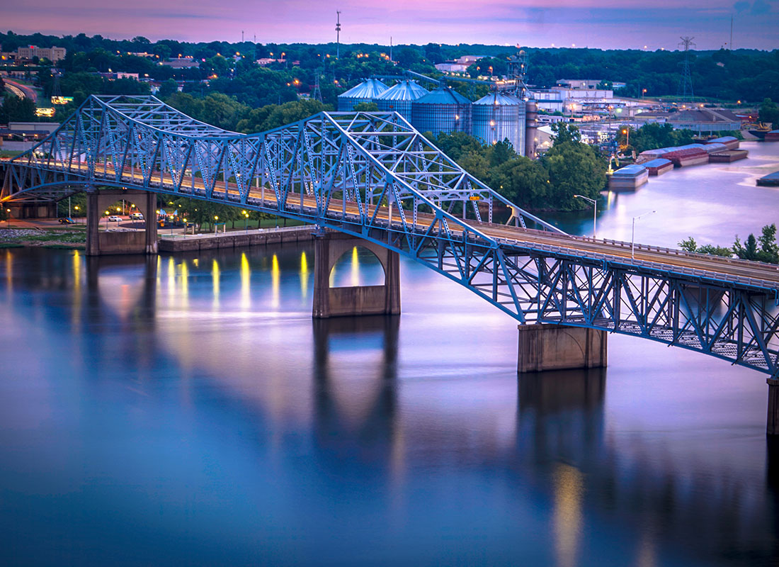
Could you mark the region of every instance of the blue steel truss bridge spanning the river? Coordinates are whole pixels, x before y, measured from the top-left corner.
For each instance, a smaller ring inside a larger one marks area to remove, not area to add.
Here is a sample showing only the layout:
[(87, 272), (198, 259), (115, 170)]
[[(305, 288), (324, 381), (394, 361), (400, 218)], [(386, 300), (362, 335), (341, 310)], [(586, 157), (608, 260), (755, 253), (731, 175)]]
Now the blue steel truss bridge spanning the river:
[[(776, 266), (566, 235), (506, 200), (394, 112), (320, 112), (244, 135), (155, 97), (92, 96), (4, 162), (3, 203), (98, 186), (263, 211), (400, 253), (520, 324), (594, 328), (779, 378)], [(511, 214), (493, 222), (493, 213)], [(773, 382), (773, 380), (771, 380)]]

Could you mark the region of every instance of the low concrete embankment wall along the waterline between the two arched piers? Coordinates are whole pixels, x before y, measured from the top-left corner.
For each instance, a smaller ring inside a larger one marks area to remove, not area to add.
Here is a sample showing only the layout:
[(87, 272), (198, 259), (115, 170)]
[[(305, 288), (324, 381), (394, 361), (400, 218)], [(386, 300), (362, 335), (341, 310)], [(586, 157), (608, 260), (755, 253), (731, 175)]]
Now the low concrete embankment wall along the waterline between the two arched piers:
[(217, 234), (161, 235), (160, 252), (189, 252), (213, 248), (238, 248), (259, 244), (278, 244), (312, 240), (313, 225), (287, 226), (278, 229), (219, 232)]

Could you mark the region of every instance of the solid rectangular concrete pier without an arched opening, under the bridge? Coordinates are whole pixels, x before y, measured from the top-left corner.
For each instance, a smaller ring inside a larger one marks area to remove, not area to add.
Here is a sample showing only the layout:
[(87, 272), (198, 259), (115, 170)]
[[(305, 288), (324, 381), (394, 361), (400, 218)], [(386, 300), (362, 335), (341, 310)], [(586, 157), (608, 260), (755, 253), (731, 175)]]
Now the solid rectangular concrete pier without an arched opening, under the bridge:
[(517, 328), (517, 372), (606, 366), (606, 331), (557, 324), (520, 324)]

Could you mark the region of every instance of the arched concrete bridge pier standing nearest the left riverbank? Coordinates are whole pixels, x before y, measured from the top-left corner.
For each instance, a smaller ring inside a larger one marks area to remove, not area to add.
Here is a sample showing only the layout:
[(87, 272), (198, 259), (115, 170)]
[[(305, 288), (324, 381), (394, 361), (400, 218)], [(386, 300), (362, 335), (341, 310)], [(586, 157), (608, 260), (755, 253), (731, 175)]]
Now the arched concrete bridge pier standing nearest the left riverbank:
[[(99, 232), (100, 217), (118, 200), (129, 200), (143, 213), (145, 230)], [(139, 190), (87, 190), (86, 255), (157, 253), (157, 193)]]

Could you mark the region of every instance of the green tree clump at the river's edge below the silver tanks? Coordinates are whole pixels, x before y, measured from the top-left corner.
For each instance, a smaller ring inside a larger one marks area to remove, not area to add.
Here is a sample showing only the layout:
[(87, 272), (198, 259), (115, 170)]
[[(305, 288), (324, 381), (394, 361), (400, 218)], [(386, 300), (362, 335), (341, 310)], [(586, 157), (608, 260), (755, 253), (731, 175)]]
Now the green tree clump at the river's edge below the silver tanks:
[(453, 133), (439, 134), (434, 141), (467, 172), (520, 207), (562, 211), (585, 208), (587, 203), (573, 196), (600, 197), (606, 184), (605, 160), (580, 141), (575, 126), (558, 122), (552, 129), (554, 144), (538, 161), (517, 155), (507, 140), (485, 146), (472, 136)]

